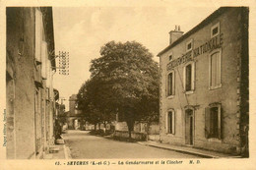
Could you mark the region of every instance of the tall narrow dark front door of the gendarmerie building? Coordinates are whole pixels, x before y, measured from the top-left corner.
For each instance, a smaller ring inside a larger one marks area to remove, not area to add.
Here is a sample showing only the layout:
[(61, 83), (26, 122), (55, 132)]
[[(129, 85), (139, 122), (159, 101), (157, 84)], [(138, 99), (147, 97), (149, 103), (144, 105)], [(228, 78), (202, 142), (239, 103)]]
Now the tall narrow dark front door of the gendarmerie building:
[(194, 143), (194, 116), (193, 110), (185, 111), (185, 143), (193, 145)]

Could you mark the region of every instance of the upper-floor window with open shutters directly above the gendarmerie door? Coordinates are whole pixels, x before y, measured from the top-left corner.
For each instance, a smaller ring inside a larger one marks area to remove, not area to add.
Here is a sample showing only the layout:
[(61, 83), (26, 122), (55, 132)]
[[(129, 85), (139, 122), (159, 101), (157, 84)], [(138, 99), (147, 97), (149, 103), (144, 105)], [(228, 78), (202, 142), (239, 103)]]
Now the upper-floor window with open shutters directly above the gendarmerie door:
[(184, 82), (184, 90), (192, 91), (194, 90), (194, 77), (195, 77), (195, 69), (194, 63), (188, 63), (185, 65), (183, 69), (183, 82)]

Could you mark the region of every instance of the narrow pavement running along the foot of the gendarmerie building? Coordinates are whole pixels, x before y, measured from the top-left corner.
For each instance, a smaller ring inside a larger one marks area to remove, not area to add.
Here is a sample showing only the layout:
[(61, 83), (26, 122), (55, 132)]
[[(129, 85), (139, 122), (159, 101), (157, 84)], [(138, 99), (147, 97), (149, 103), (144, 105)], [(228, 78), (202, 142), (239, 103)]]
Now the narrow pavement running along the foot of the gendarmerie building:
[(143, 144), (143, 145), (148, 145), (148, 146), (188, 153), (188, 154), (194, 154), (194, 155), (198, 155), (200, 157), (205, 157), (205, 158), (239, 158), (240, 157), (240, 156), (233, 156), (230, 154), (219, 153), (216, 151), (199, 149), (199, 148), (194, 148), (194, 147), (189, 147), (189, 146), (166, 144), (166, 143), (160, 143), (160, 142), (148, 141), (148, 142), (138, 142), (138, 143)]

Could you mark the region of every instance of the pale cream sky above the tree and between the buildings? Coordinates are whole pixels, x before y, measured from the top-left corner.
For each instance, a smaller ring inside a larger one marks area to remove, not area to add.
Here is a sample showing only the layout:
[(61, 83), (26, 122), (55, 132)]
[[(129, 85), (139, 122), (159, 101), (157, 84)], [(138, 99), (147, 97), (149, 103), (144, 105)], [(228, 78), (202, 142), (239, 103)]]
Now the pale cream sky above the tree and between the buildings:
[[(168, 32), (180, 26), (187, 32), (216, 11), (218, 6), (53, 7), (55, 53), (69, 52), (69, 75), (53, 78), (53, 86), (66, 100), (90, 78), (91, 60), (111, 40), (136, 40), (157, 54), (168, 45)], [(58, 59), (56, 60), (58, 66)]]

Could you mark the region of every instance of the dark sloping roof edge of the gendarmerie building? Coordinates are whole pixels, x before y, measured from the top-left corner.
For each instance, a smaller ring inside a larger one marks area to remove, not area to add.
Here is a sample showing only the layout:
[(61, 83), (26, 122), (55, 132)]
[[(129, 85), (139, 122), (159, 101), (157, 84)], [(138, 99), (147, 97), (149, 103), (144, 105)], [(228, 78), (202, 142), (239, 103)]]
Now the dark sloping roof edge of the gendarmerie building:
[(215, 20), (217, 17), (221, 16), (222, 14), (224, 14), (226, 11), (233, 9), (233, 8), (245, 8), (245, 7), (221, 7), (218, 10), (216, 10), (213, 14), (211, 14), (209, 17), (207, 17), (205, 20), (203, 20), (200, 24), (198, 24), (195, 28), (190, 29), (188, 32), (186, 32), (185, 34), (183, 34), (180, 38), (178, 38), (177, 40), (175, 40), (173, 43), (171, 43), (169, 46), (167, 46), (166, 48), (164, 48), (163, 50), (160, 51), (160, 53), (158, 54), (158, 56), (160, 56), (161, 54), (165, 53), (166, 51), (168, 51), (170, 48), (174, 47), (175, 45), (177, 45), (178, 43), (180, 43), (182, 40), (184, 40), (185, 38), (187, 38), (188, 36), (190, 36), (191, 34), (193, 34), (194, 32), (196, 32), (197, 30), (199, 30), (200, 28), (204, 28), (206, 25), (210, 24), (213, 20)]

